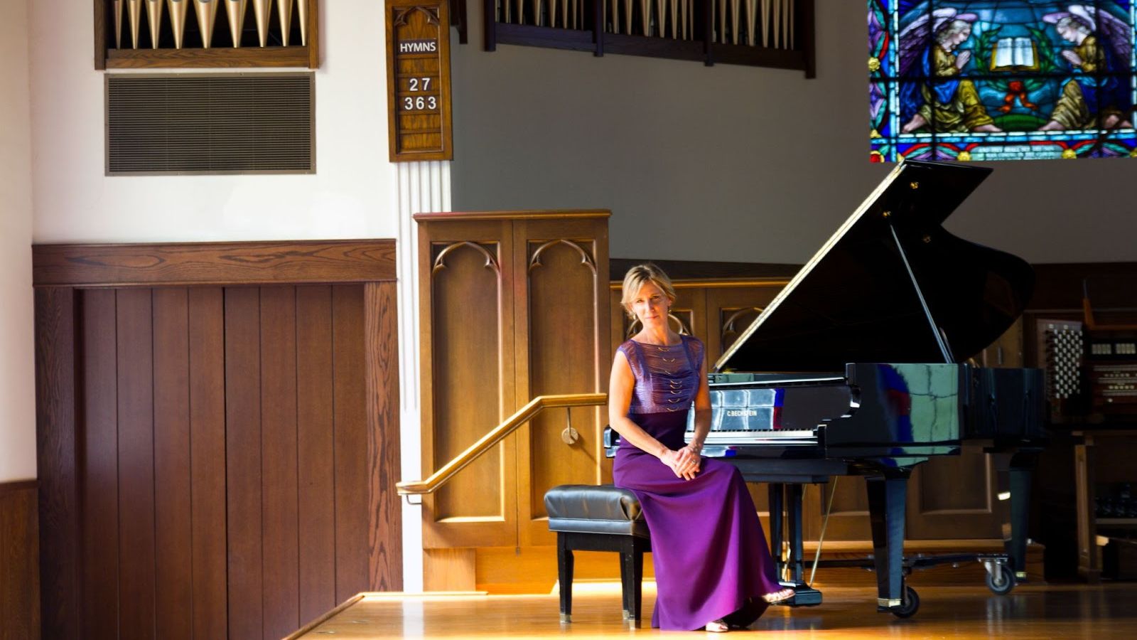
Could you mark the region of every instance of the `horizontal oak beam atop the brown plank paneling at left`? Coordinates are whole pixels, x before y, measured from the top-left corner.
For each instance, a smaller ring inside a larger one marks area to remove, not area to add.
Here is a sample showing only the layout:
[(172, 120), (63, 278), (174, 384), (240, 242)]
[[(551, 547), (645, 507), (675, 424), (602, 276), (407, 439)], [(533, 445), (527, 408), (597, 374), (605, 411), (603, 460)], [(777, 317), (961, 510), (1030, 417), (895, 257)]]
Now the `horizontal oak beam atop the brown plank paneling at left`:
[(36, 287), (393, 281), (395, 240), (33, 245)]

